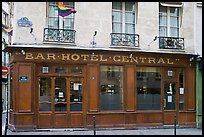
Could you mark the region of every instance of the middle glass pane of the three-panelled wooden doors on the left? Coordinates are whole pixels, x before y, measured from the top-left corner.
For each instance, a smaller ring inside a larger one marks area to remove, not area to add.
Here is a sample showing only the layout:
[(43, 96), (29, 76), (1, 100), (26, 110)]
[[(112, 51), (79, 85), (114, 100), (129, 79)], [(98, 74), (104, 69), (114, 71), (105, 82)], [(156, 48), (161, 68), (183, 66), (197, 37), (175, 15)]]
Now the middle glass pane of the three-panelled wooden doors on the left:
[(55, 79), (55, 111), (66, 111), (66, 79)]

